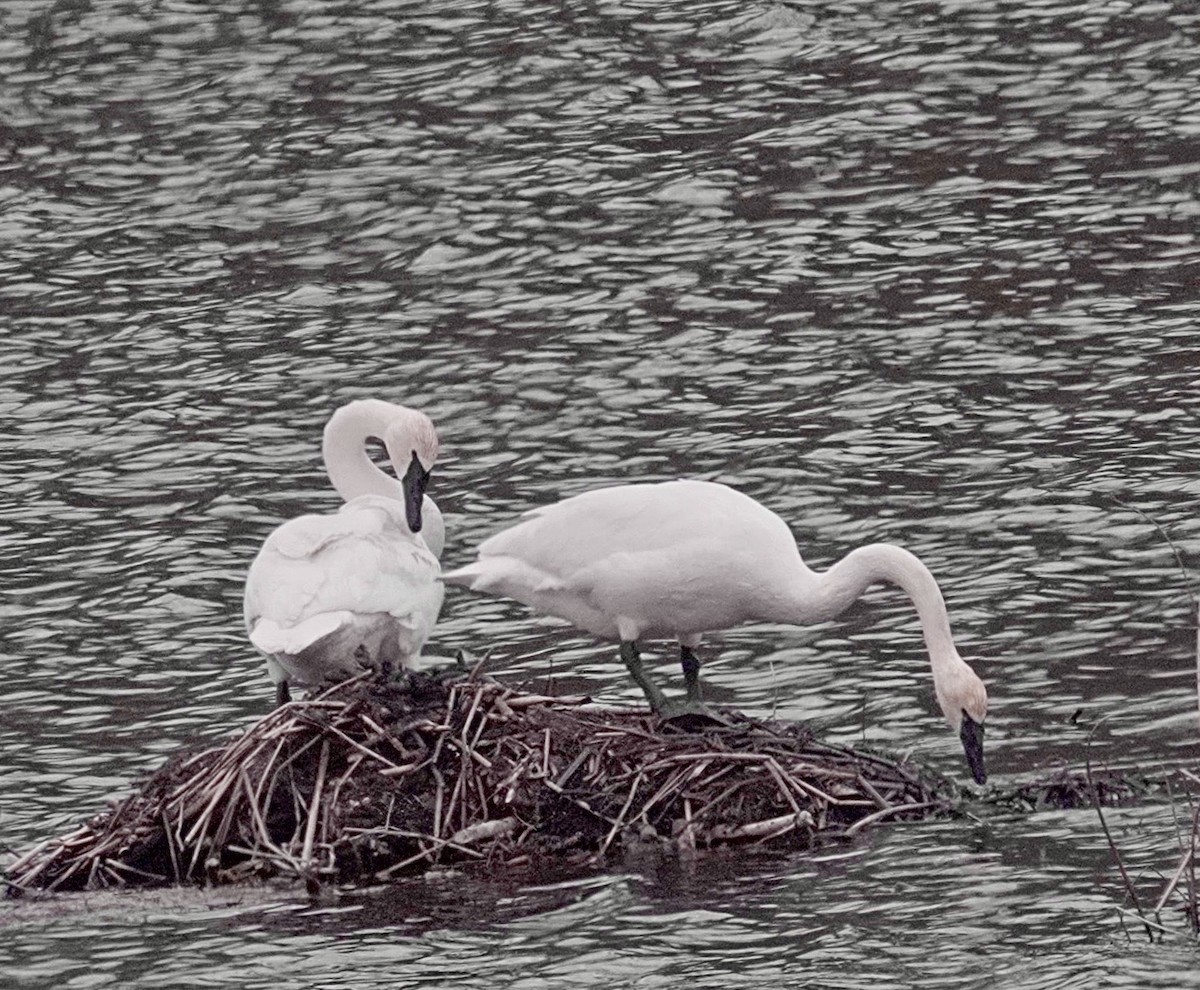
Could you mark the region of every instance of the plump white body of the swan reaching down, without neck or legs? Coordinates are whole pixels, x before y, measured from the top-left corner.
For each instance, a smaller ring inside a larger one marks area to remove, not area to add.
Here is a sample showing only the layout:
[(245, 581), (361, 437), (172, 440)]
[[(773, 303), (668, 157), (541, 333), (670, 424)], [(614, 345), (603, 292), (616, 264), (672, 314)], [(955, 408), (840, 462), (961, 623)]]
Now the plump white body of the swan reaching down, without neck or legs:
[(616, 637), (724, 629), (799, 560), (787, 524), (709, 481), (622, 485), (528, 514), (444, 575)]

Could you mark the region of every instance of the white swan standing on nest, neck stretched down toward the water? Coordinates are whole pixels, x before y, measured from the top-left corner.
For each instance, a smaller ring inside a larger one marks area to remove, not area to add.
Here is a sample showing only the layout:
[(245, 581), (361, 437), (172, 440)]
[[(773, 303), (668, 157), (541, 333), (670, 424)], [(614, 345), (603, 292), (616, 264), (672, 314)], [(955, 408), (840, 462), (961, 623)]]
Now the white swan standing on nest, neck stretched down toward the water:
[(976, 781), (986, 779), (986, 689), (954, 647), (934, 576), (898, 546), (859, 547), (816, 572), (800, 559), (787, 523), (749, 496), (709, 481), (664, 481), (600, 488), (534, 509), (485, 540), (474, 563), (442, 577), (618, 640), (630, 674), (662, 713), (679, 706), (642, 668), (638, 640), (679, 641), (683, 710), (694, 710), (702, 634), (745, 622), (824, 622), (875, 582), (898, 584), (917, 606), (937, 702)]

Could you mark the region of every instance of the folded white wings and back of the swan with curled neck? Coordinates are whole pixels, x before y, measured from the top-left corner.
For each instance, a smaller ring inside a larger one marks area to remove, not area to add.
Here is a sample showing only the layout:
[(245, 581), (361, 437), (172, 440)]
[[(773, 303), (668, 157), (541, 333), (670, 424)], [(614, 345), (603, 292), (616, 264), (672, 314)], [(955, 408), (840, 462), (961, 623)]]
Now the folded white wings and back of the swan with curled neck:
[(246, 623), (253, 630), (260, 619), (299, 626), (314, 616), (383, 612), (428, 635), (442, 606), (438, 570), (408, 532), (403, 505), (365, 496), (271, 533), (246, 578)]

